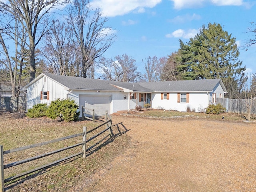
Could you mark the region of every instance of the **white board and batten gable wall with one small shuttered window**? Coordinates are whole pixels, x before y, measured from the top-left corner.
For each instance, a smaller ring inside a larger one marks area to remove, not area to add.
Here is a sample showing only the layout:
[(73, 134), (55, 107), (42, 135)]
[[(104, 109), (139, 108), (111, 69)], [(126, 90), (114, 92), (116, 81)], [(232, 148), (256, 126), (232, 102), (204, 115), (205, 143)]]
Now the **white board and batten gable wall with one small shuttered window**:
[[(40, 99), (41, 91), (49, 91), (49, 100)], [(39, 103), (47, 103), (49, 105), (51, 101), (58, 98), (67, 98), (66, 95), (67, 90), (65, 90), (64, 86), (54, 82), (48, 77), (43, 76), (27, 88), (27, 109), (30, 109), (35, 104)]]

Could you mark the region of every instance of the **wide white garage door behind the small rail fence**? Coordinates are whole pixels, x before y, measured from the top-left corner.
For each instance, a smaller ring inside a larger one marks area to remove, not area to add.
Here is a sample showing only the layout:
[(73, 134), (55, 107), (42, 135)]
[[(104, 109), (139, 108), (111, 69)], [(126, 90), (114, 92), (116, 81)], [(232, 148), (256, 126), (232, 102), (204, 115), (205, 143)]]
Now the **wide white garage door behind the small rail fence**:
[[(92, 114), (94, 109), (95, 116), (105, 115), (105, 112), (108, 111), (110, 114), (110, 95), (80, 95), (79, 96), (79, 106), (84, 106), (84, 112), (86, 114)], [(84, 116), (88, 116), (84, 114)]]

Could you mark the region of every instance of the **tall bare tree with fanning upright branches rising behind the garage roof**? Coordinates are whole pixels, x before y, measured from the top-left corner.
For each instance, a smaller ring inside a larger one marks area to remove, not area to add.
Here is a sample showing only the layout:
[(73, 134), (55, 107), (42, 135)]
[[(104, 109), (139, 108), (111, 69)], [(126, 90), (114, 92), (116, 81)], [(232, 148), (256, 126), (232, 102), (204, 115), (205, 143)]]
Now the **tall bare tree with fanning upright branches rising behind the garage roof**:
[(78, 42), (82, 57), (81, 76), (87, 77), (87, 70), (96, 58), (102, 56), (112, 45), (114, 33), (106, 25), (107, 18), (103, 18), (100, 9), (92, 10), (89, 0), (74, 0), (68, 8), (68, 23), (74, 34), (74, 41)]

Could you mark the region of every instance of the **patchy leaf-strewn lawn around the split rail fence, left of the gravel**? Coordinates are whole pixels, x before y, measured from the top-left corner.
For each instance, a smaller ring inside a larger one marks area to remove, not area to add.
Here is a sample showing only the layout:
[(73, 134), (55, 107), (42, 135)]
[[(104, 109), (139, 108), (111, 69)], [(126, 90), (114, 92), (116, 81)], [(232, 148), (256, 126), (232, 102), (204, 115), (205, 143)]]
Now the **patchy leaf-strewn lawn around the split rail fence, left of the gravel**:
[[(18, 113), (1, 114), (0, 144), (4, 146), (4, 150), (8, 150), (81, 133), (83, 126), (87, 126), (88, 130), (90, 130), (100, 124), (101, 122), (92, 123), (88, 120), (79, 122), (58, 122), (57, 120), (51, 120), (49, 118), (28, 118), (24, 114)], [(106, 127), (103, 126), (102, 129), (104, 128)], [(65, 192), (69, 188), (72, 188), (72, 186), (75, 186), (80, 180), (90, 176), (95, 170), (103, 168), (115, 156), (118, 156), (125, 150), (129, 138), (123, 134), (124, 132), (126, 132), (126, 130), (122, 125), (119, 125), (118, 128), (114, 126), (114, 136), (110, 140), (106, 140), (99, 148), (88, 152), (86, 160), (81, 157), (73, 158), (56, 166), (43, 169), (29, 176), (6, 183), (5, 190), (10, 192)], [(88, 138), (93, 134), (95, 134), (95, 132), (89, 134)], [(82, 137), (7, 154), (4, 155), (4, 164), (30, 158), (78, 142), (82, 142)], [(90, 142), (88, 146), (90, 146), (90, 144), (93, 144), (93, 142)], [(82, 146), (5, 169), (4, 178), (81, 151)]]

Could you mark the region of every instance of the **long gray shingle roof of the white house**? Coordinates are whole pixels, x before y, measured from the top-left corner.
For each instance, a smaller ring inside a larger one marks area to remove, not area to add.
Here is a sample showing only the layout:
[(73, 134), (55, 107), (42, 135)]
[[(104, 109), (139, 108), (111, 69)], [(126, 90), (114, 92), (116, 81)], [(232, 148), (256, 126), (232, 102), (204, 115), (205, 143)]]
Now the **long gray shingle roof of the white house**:
[(125, 88), (134, 92), (207, 92), (212, 91), (220, 83), (226, 92), (220, 79), (128, 83), (53, 74), (42, 75), (48, 76), (69, 89), (120, 91)]

